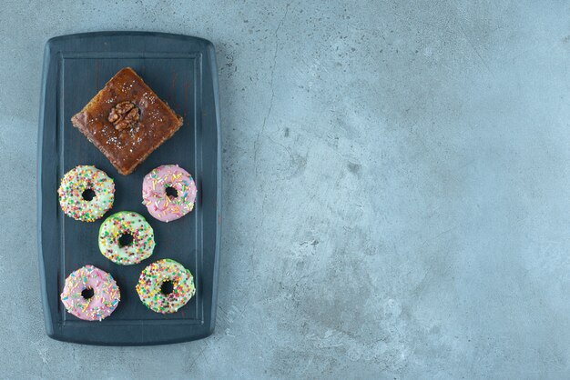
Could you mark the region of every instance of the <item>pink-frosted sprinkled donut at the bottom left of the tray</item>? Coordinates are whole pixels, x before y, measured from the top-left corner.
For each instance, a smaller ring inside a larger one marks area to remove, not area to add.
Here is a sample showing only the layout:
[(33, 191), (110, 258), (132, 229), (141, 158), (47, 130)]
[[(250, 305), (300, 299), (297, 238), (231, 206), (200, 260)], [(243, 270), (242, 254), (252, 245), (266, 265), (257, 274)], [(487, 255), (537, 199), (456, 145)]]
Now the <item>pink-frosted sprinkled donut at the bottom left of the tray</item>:
[(121, 295), (112, 275), (85, 265), (66, 278), (60, 298), (70, 314), (86, 321), (100, 321), (115, 311)]

